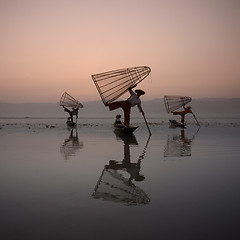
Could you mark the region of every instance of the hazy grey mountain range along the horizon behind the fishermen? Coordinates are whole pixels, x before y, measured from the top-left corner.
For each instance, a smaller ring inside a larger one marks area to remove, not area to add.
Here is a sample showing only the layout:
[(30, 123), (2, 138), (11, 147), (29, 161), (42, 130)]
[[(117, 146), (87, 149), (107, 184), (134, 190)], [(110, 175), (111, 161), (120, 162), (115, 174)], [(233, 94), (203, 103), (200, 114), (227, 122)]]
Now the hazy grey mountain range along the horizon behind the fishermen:
[[(189, 104), (198, 117), (240, 117), (240, 98), (202, 98), (193, 99)], [(83, 102), (79, 117), (113, 117), (122, 114), (121, 109), (110, 112), (101, 101)], [(142, 101), (142, 108), (149, 118), (167, 117), (163, 99)], [(59, 103), (0, 103), (0, 118), (6, 117), (66, 117), (67, 113)], [(132, 117), (141, 117), (138, 108), (132, 109)]]

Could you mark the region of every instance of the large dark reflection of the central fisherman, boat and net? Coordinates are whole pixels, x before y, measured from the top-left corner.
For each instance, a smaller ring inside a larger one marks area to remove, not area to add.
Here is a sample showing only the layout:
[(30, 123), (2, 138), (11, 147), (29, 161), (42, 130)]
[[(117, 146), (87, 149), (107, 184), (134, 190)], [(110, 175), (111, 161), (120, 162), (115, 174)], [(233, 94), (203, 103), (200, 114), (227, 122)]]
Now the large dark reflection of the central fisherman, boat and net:
[[(138, 161), (132, 163), (130, 145), (138, 145), (135, 136), (118, 132), (115, 132), (115, 134), (117, 139), (124, 142), (124, 158), (121, 162), (110, 160), (109, 164), (104, 166), (92, 196), (105, 201), (122, 202), (125, 205), (148, 204), (150, 199), (147, 194), (132, 181), (143, 181), (145, 179), (144, 175), (140, 174), (140, 169), (150, 137)], [(124, 176), (126, 173), (129, 177)]]

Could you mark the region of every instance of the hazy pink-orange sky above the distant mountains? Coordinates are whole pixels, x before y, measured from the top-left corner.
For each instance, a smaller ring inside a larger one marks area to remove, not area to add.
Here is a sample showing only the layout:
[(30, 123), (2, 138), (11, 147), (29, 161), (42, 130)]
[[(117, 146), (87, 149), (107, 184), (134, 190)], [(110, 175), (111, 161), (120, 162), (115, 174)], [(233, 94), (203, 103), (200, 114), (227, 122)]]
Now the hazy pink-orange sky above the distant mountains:
[(141, 65), (143, 100), (240, 97), (239, 0), (0, 0), (0, 33), (0, 102), (100, 100), (92, 74)]

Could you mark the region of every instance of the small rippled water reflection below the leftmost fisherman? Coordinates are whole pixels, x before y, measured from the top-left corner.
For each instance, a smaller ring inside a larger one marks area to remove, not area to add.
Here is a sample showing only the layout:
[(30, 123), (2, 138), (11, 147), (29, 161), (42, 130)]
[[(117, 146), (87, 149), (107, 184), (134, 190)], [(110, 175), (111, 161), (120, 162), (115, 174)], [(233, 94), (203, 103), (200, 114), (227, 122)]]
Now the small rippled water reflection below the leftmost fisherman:
[[(75, 131), (75, 134), (73, 131)], [(60, 152), (62, 153), (65, 160), (68, 160), (69, 157), (75, 155), (77, 150), (82, 148), (83, 142), (78, 141), (77, 128), (71, 128), (70, 136), (64, 140), (64, 143), (60, 147)]]

